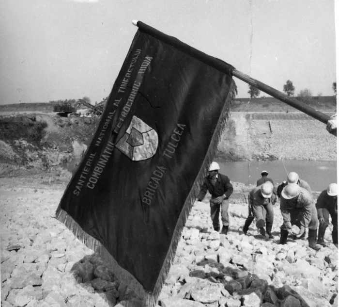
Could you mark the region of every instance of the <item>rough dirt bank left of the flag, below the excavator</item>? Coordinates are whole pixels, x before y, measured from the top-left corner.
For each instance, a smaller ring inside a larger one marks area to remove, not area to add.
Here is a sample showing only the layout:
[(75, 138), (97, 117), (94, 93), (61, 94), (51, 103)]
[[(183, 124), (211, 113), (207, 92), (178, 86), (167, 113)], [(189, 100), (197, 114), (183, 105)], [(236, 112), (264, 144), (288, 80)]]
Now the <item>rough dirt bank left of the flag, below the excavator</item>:
[(0, 176), (51, 170), (79, 159), (99, 119), (28, 114), (0, 117)]

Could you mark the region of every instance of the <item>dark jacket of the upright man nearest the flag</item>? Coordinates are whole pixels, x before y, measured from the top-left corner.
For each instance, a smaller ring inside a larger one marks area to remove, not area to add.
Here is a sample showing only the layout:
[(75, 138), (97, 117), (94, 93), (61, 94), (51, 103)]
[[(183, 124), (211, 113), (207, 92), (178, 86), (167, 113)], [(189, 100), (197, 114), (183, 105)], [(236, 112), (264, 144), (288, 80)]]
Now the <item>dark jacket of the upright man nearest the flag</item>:
[(198, 200), (202, 200), (206, 193), (208, 192), (212, 195), (212, 197), (218, 197), (225, 194), (226, 199), (228, 199), (233, 193), (233, 186), (230, 182), (230, 179), (218, 173), (218, 178), (216, 178), (216, 185), (213, 185), (210, 178), (205, 177), (205, 182), (201, 186), (200, 193), (198, 195)]

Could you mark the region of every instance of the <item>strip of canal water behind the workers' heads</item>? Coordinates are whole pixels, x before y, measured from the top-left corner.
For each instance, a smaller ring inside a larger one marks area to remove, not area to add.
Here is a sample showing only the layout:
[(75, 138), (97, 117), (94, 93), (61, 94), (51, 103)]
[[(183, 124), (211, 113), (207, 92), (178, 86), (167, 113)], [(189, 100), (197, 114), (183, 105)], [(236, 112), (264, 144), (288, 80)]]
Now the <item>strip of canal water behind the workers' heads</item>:
[(296, 172), (299, 177), (308, 182), (312, 191), (319, 192), (330, 183), (337, 182), (336, 161), (216, 161), (220, 165), (220, 173), (227, 175), (231, 181), (256, 184), (261, 178), (260, 173), (266, 170), (274, 183), (286, 180), (287, 174)]

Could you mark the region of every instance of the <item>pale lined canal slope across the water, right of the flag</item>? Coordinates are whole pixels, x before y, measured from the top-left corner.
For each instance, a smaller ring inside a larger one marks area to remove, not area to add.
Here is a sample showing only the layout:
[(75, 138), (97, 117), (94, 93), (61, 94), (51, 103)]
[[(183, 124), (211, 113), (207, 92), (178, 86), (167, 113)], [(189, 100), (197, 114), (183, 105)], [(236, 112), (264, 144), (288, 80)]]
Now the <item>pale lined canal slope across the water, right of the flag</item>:
[(231, 113), (218, 145), (217, 158), (233, 161), (337, 160), (337, 138), (326, 131), (323, 123), (309, 116), (309, 119), (304, 116), (296, 120), (291, 119), (291, 113), (285, 115), (288, 118), (271, 116), (273, 119), (268, 120), (257, 119), (261, 118), (258, 113)]

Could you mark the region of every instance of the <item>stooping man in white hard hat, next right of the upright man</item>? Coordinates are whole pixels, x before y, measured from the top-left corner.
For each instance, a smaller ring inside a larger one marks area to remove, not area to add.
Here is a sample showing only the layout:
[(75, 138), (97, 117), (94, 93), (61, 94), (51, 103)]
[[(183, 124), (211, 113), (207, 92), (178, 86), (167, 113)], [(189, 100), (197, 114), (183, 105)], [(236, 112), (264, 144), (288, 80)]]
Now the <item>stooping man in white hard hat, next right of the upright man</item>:
[(273, 197), (276, 196), (273, 194), (273, 184), (270, 181), (262, 183), (259, 187), (255, 187), (249, 192), (248, 217), (243, 228), (245, 235), (255, 219), (261, 235), (274, 239), (271, 233), (274, 220)]

